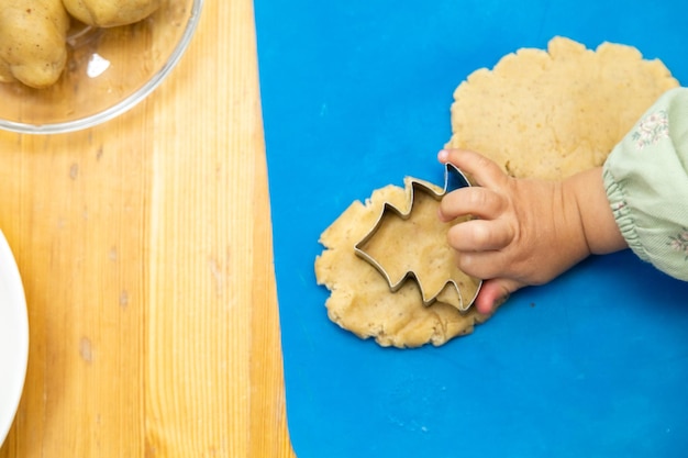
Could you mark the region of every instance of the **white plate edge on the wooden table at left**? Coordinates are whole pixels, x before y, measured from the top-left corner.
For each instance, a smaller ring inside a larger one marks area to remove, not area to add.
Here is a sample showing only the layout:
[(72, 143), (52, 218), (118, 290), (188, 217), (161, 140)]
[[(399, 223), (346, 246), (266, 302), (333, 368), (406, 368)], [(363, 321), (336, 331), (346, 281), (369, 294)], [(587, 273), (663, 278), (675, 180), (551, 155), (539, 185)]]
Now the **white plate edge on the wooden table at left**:
[(14, 421), (27, 359), (26, 299), (16, 262), (0, 231), (0, 445)]

